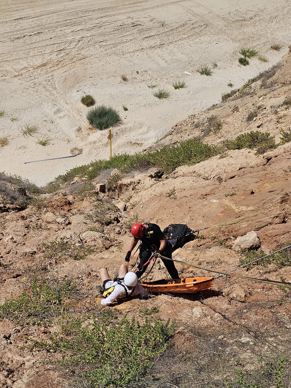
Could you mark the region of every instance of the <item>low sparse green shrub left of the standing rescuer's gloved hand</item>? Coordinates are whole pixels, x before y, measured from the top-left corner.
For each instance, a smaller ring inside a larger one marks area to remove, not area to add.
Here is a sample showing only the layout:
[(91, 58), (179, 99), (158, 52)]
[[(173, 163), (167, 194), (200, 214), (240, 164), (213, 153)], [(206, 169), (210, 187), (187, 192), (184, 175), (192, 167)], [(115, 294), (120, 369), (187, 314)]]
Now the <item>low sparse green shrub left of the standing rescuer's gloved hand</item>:
[(82, 244), (76, 246), (73, 243), (65, 242), (65, 237), (61, 237), (59, 241), (42, 242), (40, 245), (45, 249), (43, 257), (54, 259), (55, 261), (61, 261), (68, 258), (73, 260), (84, 260), (87, 255), (94, 252), (94, 249), (90, 245)]

